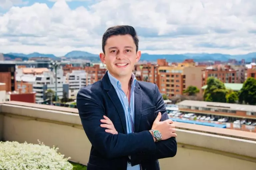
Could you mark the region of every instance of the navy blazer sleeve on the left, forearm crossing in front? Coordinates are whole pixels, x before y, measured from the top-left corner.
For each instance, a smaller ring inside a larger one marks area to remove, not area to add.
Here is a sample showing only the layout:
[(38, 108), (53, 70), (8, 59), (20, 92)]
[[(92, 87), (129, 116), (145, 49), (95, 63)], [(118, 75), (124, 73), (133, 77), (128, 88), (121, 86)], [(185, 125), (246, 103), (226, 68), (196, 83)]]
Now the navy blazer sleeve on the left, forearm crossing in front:
[(104, 119), (101, 100), (90, 89), (81, 88), (77, 94), (77, 109), (84, 131), (92, 146), (106, 158), (128, 156), (138, 152), (155, 152), (156, 145), (149, 131), (111, 134), (100, 127)]

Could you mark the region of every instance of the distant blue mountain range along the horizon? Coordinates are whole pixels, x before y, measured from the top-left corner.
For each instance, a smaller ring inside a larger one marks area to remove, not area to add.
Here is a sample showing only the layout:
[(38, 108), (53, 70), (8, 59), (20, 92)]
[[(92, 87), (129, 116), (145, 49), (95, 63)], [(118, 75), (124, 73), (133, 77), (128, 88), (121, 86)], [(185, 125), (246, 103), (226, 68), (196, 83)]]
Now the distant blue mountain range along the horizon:
[[(6, 59), (15, 59), (21, 58), (22, 60), (28, 60), (31, 57), (49, 57), (53, 60), (60, 59), (60, 57), (66, 57), (68, 59), (85, 59), (91, 61), (100, 61), (98, 54), (92, 54), (86, 51), (71, 51), (65, 54), (64, 56), (55, 56), (53, 54), (42, 54), (38, 52), (33, 52), (31, 54), (23, 54), (23, 53), (7, 53), (4, 54)], [(246, 62), (251, 62), (252, 58), (256, 58), (256, 52), (240, 54), (240, 55), (229, 55), (229, 54), (221, 54), (221, 53), (184, 53), (184, 54), (141, 54), (141, 61), (156, 61), (157, 59), (166, 59), (168, 62), (182, 62), (185, 59), (194, 59), (195, 62), (202, 61), (228, 61), (229, 59), (236, 59), (237, 61), (241, 61), (245, 59)]]

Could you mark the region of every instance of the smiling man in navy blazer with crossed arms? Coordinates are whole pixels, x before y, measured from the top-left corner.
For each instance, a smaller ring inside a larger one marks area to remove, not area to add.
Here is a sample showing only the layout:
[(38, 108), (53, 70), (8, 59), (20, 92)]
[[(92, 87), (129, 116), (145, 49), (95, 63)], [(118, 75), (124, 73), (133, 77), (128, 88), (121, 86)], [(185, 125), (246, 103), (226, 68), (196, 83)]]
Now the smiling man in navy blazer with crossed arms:
[(158, 159), (176, 155), (177, 134), (158, 87), (132, 74), (141, 57), (138, 42), (131, 26), (107, 29), (100, 59), (108, 71), (77, 94), (92, 144), (88, 170), (159, 170)]

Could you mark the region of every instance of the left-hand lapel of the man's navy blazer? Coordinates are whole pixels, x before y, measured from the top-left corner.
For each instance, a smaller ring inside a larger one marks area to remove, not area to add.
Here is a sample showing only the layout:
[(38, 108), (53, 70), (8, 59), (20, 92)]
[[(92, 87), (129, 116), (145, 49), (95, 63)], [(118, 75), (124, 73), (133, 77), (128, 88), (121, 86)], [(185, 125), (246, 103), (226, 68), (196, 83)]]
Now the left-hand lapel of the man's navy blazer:
[(119, 97), (116, 94), (116, 90), (114, 89), (114, 87), (112, 86), (112, 84), (109, 80), (107, 72), (105, 73), (105, 75), (102, 78), (102, 85), (103, 85), (103, 88), (105, 90), (107, 90), (108, 96), (118, 112), (118, 116), (121, 120), (121, 124), (122, 124), (123, 130), (124, 130), (124, 133), (127, 133), (124, 109), (123, 109), (123, 106), (122, 106), (122, 103), (121, 103)]

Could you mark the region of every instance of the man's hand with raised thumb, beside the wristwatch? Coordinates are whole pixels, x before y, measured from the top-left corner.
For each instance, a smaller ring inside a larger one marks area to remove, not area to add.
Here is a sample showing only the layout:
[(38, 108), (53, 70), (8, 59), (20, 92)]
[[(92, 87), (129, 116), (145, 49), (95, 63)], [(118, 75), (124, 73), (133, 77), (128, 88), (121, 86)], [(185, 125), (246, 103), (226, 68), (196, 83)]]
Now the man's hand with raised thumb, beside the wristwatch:
[(176, 130), (175, 130), (175, 125), (173, 125), (173, 121), (170, 119), (167, 119), (165, 121), (160, 122), (161, 117), (162, 117), (161, 112), (158, 112), (156, 120), (153, 123), (152, 129), (160, 131), (162, 135), (162, 140), (169, 139), (170, 137), (177, 137), (177, 134), (175, 133)]

